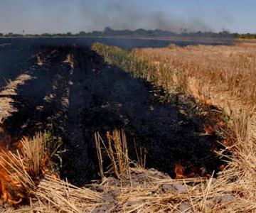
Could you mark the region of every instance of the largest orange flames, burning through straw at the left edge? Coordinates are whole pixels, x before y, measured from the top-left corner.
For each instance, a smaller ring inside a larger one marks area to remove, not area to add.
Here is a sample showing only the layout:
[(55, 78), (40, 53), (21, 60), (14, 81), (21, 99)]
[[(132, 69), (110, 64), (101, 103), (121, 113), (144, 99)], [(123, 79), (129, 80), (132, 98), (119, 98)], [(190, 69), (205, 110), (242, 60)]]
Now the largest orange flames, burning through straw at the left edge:
[[(38, 138), (41, 136), (41, 134), (37, 135)], [(28, 140), (28, 138), (24, 137), (23, 140)], [(32, 144), (29, 140), (28, 142)], [(18, 151), (11, 152), (10, 148)], [(35, 151), (31, 147), (27, 148), (32, 152)], [(32, 156), (34, 155), (38, 156), (32, 153)], [(0, 126), (0, 206), (6, 202), (19, 204), (26, 200), (31, 190), (35, 189), (39, 175), (46, 174), (48, 155), (42, 155), (42, 158), (38, 159), (41, 173), (37, 175), (33, 173), (32, 160), (26, 153), (23, 143), (11, 140), (11, 136)]]

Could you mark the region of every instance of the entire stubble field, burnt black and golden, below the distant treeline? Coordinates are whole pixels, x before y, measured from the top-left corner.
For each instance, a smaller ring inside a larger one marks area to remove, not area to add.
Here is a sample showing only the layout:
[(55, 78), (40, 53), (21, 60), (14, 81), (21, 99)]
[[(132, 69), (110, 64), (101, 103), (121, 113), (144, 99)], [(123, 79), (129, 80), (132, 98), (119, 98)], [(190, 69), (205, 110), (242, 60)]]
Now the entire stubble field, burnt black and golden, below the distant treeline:
[(254, 43), (25, 40), (0, 46), (0, 211), (256, 210)]

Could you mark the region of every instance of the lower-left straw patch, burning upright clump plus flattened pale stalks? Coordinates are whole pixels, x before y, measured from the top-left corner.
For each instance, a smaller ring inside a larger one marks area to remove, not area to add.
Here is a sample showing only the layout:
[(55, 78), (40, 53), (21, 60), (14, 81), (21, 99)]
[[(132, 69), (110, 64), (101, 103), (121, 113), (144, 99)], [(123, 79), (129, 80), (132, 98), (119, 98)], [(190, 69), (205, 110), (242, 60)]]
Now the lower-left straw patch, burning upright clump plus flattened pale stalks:
[(1, 148), (0, 204), (30, 206), (2, 212), (91, 212), (101, 204), (99, 193), (48, 175), (53, 171), (48, 167), (46, 134), (23, 138), (17, 148), (15, 153)]

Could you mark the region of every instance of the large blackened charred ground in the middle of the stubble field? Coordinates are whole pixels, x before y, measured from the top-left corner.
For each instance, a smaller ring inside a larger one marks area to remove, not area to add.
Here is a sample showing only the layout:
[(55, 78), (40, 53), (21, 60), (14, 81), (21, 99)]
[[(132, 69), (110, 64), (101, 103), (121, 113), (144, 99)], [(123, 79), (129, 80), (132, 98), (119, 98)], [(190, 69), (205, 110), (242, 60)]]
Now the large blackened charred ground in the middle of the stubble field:
[[(193, 100), (174, 96), (164, 101), (164, 89), (108, 64), (87, 45), (36, 42), (1, 47), (2, 79), (20, 82), (15, 94), (1, 93), (2, 100), (11, 99), (13, 111), (4, 118), (4, 128), (13, 141), (38, 131), (63, 138), (57, 160), (62, 178), (76, 185), (99, 178), (94, 133), (104, 136), (114, 129), (126, 131), (132, 159), (134, 143), (142, 148), (147, 168), (172, 178), (181, 164), (183, 177), (218, 172), (223, 164), (215, 154), (220, 138), (206, 132), (217, 121), (196, 114)], [(1, 80), (3, 90), (6, 84), (11, 82)]]

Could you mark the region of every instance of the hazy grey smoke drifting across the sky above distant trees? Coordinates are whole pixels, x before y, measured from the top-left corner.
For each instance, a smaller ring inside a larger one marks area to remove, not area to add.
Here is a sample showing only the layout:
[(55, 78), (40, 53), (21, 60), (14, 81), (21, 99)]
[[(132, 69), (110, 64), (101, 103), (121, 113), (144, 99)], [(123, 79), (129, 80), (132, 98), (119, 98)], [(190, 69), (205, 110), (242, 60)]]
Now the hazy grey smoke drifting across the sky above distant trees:
[(84, 27), (90, 31), (101, 31), (106, 26), (115, 30), (158, 28), (176, 33), (184, 29), (191, 32), (213, 31), (202, 18), (184, 18), (156, 9), (144, 10), (142, 5), (132, 1), (104, 1), (103, 4), (97, 1), (90, 4), (82, 2), (79, 8), (80, 16), (85, 21)]

